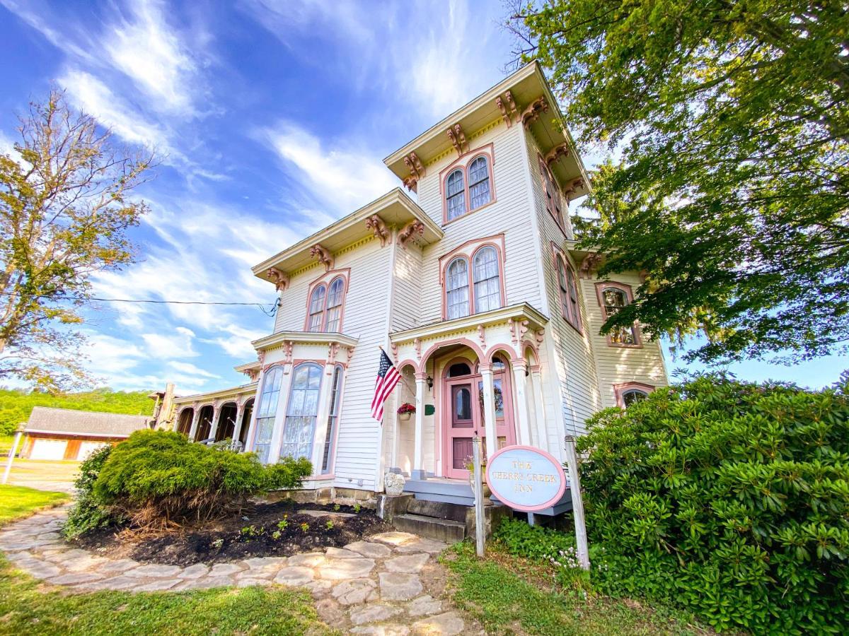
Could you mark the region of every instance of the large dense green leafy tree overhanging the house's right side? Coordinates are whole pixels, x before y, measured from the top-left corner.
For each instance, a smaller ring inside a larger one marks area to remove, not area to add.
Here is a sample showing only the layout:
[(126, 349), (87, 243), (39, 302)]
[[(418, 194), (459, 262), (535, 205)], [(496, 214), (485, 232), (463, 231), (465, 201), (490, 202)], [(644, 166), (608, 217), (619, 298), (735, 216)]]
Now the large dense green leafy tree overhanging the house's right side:
[[(604, 324), (707, 343), (688, 359), (784, 360), (849, 341), (849, 9), (792, 0), (515, 2), (603, 165), (583, 237), (601, 275), (643, 271)], [(651, 293), (648, 293), (651, 292)]]

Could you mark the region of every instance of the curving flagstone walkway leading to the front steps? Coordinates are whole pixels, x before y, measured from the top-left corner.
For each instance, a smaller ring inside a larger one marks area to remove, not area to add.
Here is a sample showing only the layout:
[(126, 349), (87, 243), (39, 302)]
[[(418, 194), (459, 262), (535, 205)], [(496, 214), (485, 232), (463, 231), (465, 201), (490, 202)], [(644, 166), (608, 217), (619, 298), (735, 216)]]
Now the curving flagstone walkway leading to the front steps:
[(380, 533), (344, 548), (213, 566), (142, 565), (70, 548), (59, 536), (65, 508), (0, 529), (0, 550), (33, 577), (80, 591), (178, 591), (277, 583), (305, 587), (334, 628), (374, 636), (482, 633), (440, 600), (446, 548), (409, 533)]

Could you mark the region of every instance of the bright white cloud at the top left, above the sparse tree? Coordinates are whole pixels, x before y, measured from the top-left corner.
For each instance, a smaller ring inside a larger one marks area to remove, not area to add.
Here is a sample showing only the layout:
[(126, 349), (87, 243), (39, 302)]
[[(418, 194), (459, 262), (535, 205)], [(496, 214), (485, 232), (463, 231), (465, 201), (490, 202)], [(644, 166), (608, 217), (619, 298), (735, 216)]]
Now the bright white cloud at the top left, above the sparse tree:
[(113, 66), (148, 94), (154, 109), (194, 114), (198, 65), (184, 37), (167, 25), (161, 3), (136, 0), (131, 7), (132, 20), (106, 29), (104, 47)]

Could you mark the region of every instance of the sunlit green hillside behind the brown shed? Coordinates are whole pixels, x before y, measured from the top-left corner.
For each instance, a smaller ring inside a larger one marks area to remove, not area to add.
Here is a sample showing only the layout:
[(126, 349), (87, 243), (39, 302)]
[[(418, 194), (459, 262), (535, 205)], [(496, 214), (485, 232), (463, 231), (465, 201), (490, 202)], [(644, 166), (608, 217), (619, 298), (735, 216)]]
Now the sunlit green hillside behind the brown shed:
[(19, 422), (27, 421), (33, 406), (152, 416), (155, 403), (148, 397), (149, 393), (149, 391), (113, 391), (110, 388), (97, 388), (84, 393), (49, 395), (16, 389), (0, 389), (0, 434), (14, 432)]

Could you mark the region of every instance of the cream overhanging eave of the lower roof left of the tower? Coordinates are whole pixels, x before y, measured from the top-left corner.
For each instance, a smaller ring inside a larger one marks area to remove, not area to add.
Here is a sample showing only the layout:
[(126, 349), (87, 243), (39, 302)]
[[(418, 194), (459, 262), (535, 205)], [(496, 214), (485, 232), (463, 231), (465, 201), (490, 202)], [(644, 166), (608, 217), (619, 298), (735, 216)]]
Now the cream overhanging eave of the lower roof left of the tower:
[(270, 259), (263, 260), (259, 265), (251, 268), (254, 276), (266, 281), (273, 282), (272, 275), (268, 270), (276, 268), (289, 275), (306, 265), (316, 262), (316, 257), (310, 254), (314, 245), (321, 245), (330, 254), (335, 254), (351, 243), (357, 243), (360, 239), (371, 236), (374, 232), (366, 226), (366, 220), (373, 215), (378, 215), (387, 227), (401, 228), (411, 220), (418, 220), (424, 226), (424, 232), (414, 240), (424, 245), (435, 243), (442, 237), (442, 230), (419, 208), (412, 198), (409, 198), (401, 188), (396, 187), (386, 192), (382, 197), (363, 206), (356, 212), (336, 221), (333, 225), (325, 227), (310, 237), (295, 243), (290, 248), (275, 254)]

